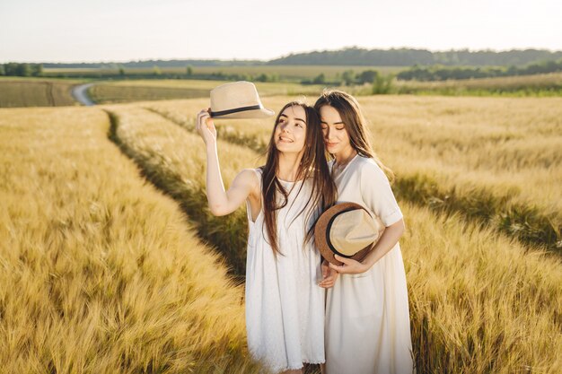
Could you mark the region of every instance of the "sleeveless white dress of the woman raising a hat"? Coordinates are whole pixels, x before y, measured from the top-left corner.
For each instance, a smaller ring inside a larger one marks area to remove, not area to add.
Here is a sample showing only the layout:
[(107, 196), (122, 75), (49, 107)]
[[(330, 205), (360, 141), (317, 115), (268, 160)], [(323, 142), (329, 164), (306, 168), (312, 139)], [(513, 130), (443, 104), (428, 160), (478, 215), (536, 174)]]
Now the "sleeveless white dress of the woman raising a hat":
[[(256, 172), (261, 180), (259, 170)], [(294, 186), (288, 204), (277, 211), (278, 244), (283, 256), (274, 257), (269, 245), (263, 207), (252, 222), (248, 204), (248, 348), (253, 358), (274, 372), (300, 369), (303, 362), (324, 362), (325, 293), (318, 285), (321, 256), (313, 240), (303, 248), (305, 229), (310, 227), (306, 218), (312, 209), (312, 204), (307, 204), (311, 183), (282, 183), (287, 191)], [(312, 215), (312, 220), (315, 218)]]

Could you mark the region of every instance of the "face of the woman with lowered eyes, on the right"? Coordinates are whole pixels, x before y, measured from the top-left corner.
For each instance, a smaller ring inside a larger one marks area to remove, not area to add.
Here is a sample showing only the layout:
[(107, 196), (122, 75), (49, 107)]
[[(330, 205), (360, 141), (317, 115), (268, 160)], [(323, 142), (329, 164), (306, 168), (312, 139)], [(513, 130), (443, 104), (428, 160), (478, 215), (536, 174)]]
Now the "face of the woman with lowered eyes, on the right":
[(320, 109), (322, 133), (326, 151), (331, 154), (347, 154), (353, 150), (346, 125), (334, 107), (324, 105)]

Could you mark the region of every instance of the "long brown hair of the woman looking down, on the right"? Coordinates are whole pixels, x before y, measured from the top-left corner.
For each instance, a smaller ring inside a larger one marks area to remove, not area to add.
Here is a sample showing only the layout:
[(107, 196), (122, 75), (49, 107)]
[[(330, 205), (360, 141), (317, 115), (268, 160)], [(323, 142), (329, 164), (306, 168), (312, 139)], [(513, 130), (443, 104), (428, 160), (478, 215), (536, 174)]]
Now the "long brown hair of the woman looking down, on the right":
[(374, 152), (373, 144), (371, 144), (371, 131), (356, 98), (344, 91), (324, 90), (320, 98), (316, 100), (314, 109), (320, 115), (320, 109), (324, 106), (338, 110), (339, 117), (341, 117), (349, 135), (351, 146), (360, 156), (373, 159), (386, 176), (393, 181), (394, 173), (382, 163)]

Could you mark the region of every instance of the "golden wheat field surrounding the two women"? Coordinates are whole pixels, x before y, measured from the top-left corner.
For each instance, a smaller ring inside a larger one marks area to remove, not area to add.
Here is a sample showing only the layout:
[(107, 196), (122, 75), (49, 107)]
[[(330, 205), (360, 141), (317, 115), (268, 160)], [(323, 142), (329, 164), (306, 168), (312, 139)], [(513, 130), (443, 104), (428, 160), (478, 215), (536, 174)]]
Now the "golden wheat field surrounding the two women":
[[(476, 209), (494, 203), (493, 218), (523, 204), (558, 224), (559, 101), (361, 99), (397, 172), (418, 373), (562, 370), (560, 257)], [(14, 284), (0, 291), (6, 372), (258, 371), (244, 351), (241, 290), (201, 244), (243, 274), (243, 208), (206, 208), (205, 149), (192, 131), (207, 104), (1, 109), (0, 283)], [(217, 122), (227, 184), (263, 162), (272, 120)], [(467, 206), (479, 219), (466, 219)]]

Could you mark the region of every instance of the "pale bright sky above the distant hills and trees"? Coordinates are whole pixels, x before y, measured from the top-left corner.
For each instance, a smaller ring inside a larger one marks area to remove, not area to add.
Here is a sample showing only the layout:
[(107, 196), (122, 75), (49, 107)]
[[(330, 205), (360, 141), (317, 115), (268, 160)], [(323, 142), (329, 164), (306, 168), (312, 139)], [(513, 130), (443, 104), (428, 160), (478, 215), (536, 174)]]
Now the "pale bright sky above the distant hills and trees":
[(562, 50), (559, 0), (0, 0), (0, 63)]

